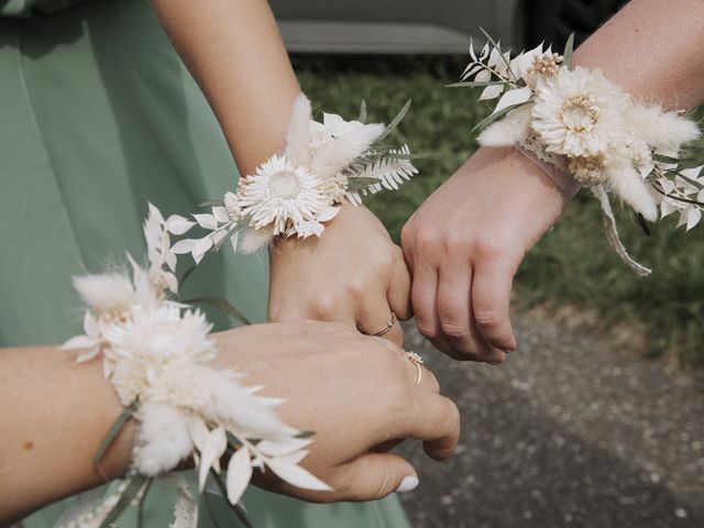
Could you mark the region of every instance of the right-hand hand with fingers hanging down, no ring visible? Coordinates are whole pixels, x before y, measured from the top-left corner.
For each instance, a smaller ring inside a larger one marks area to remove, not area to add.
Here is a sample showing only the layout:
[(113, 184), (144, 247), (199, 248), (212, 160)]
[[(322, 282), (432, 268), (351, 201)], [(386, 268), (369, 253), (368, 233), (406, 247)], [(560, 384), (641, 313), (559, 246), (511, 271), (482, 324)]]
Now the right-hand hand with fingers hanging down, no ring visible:
[(418, 330), (452, 358), (503, 362), (514, 275), (565, 204), (522, 154), (480, 148), (403, 229)]

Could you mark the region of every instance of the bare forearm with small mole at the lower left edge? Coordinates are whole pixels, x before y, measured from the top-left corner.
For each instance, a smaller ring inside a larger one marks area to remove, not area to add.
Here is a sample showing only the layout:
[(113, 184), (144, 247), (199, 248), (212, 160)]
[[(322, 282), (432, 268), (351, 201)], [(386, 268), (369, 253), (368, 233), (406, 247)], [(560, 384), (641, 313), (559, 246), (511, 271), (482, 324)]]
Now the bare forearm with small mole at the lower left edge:
[(100, 361), (56, 348), (0, 350), (0, 525), (124, 473), (132, 425), (98, 470), (92, 458), (122, 407)]

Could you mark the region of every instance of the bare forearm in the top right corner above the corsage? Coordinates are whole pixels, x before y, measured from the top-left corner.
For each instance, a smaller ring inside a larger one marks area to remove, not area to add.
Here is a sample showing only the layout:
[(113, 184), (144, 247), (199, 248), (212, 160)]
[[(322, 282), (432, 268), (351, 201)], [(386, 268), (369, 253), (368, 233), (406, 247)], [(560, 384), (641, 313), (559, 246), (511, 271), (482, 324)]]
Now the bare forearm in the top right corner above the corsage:
[(637, 98), (668, 110), (704, 100), (704, 1), (632, 0), (574, 53)]

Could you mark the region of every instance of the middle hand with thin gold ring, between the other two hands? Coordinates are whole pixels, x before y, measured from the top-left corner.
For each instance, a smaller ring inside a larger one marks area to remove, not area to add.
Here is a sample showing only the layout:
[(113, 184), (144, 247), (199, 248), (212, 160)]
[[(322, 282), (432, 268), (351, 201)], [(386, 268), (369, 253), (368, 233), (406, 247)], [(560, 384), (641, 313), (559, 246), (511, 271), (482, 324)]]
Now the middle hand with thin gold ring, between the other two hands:
[[(411, 317), (403, 252), (365, 207), (342, 206), (320, 238), (277, 241), (271, 263), (271, 321), (338, 321), (372, 336), (392, 312)], [(403, 346), (400, 324), (384, 338)]]

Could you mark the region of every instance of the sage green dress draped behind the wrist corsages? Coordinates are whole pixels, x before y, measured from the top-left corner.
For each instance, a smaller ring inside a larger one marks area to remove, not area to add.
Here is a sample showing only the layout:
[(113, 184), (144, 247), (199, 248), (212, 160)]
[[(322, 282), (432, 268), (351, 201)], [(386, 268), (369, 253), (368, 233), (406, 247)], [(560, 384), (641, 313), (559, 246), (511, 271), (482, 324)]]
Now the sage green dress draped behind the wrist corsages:
[[(123, 262), (124, 251), (143, 255), (147, 200), (187, 213), (235, 182), (217, 121), (147, 0), (0, 0), (0, 345), (79, 332), (70, 277)], [(223, 253), (190, 292), (264, 320), (265, 256)], [(146, 525), (168, 526), (173, 502), (173, 490), (154, 486)], [(244, 504), (257, 528), (408, 526), (396, 497), (311, 505), (252, 487)], [(53, 526), (64, 509), (24, 526)], [(200, 526), (209, 518), (201, 507)]]

